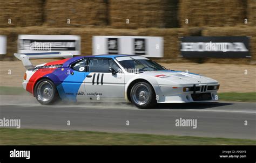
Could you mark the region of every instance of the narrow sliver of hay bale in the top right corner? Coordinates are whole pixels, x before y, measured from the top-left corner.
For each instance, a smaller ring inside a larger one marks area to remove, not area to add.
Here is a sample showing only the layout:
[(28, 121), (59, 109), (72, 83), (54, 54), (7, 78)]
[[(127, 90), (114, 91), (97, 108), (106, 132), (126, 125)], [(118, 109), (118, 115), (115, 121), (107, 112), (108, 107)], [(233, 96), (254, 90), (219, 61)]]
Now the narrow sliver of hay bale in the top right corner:
[(247, 0), (247, 18), (248, 24), (255, 26), (256, 25), (256, 1)]

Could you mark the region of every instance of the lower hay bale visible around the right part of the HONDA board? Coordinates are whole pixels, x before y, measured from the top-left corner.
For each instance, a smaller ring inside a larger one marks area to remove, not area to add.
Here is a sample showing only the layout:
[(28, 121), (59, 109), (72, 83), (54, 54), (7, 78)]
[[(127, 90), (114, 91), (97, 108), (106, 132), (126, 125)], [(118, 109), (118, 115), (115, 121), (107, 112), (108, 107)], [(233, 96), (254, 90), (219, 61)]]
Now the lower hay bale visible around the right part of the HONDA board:
[(203, 36), (248, 36), (251, 37), (250, 49), (252, 58), (238, 59), (208, 59), (207, 62), (250, 64), (256, 62), (256, 27), (207, 27), (202, 31)]

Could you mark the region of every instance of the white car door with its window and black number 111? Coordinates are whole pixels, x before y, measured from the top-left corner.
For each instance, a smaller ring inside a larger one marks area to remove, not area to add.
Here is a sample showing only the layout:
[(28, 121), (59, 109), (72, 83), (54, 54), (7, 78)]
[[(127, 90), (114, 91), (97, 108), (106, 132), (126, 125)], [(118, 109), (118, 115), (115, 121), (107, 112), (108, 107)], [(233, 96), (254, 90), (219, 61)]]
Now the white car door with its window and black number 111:
[[(109, 69), (116, 70), (116, 74)], [(125, 101), (125, 74), (111, 58), (91, 58), (85, 79), (86, 96), (92, 101)]]

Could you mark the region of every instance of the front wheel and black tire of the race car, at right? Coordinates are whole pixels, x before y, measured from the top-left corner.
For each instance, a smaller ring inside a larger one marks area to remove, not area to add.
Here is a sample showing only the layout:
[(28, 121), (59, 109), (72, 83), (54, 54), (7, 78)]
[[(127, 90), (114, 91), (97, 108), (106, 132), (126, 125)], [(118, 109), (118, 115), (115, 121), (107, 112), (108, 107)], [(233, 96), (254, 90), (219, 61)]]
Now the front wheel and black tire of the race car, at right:
[(138, 82), (132, 86), (130, 93), (131, 101), (141, 109), (154, 108), (157, 105), (156, 93), (151, 84)]

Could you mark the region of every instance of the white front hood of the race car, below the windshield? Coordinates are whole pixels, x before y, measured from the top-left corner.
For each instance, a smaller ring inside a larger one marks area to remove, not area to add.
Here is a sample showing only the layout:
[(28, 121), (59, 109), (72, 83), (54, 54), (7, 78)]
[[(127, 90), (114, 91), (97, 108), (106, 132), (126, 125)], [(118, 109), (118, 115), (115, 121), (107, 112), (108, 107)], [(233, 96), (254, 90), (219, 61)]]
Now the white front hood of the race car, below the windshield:
[(144, 72), (143, 75), (150, 75), (157, 78), (159, 84), (163, 85), (189, 85), (189, 84), (217, 84), (218, 81), (198, 74), (179, 72), (173, 70), (158, 70)]

